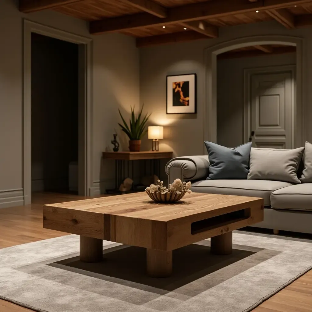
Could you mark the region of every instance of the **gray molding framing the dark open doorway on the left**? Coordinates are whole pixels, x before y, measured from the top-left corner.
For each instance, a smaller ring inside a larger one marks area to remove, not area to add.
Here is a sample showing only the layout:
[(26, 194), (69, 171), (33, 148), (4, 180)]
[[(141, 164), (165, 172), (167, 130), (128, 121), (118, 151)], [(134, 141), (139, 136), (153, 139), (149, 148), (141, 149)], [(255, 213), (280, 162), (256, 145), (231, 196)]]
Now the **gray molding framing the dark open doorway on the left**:
[[(47, 37), (52, 37), (71, 43), (78, 44), (84, 47), (84, 112), (81, 112), (84, 117), (84, 160), (83, 160), (83, 178), (84, 186), (80, 192), (81, 195), (89, 195), (92, 186), (92, 112), (93, 112), (93, 99), (92, 99), (92, 39), (82, 37), (70, 32), (59, 30), (53, 27), (42, 25), (36, 22), (23, 19), (23, 191), (24, 191), (24, 205), (31, 203), (32, 195), (32, 127), (31, 127), (31, 34), (37, 33)], [(81, 51), (81, 50), (80, 50)], [(81, 93), (82, 94), (82, 93)]]

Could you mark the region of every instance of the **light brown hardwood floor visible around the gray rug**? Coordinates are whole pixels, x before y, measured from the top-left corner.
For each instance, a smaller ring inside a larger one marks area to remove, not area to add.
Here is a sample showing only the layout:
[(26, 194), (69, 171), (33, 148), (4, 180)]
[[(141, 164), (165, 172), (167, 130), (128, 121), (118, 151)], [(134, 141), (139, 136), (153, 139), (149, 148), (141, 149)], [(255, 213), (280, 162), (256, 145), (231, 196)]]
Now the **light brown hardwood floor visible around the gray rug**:
[[(84, 198), (86, 197), (67, 194), (34, 193), (31, 205), (0, 209), (0, 248), (68, 235), (42, 227), (42, 205)], [(32, 310), (0, 300), (0, 311), (31, 312)], [(253, 310), (253, 312), (311, 311), (312, 270)]]

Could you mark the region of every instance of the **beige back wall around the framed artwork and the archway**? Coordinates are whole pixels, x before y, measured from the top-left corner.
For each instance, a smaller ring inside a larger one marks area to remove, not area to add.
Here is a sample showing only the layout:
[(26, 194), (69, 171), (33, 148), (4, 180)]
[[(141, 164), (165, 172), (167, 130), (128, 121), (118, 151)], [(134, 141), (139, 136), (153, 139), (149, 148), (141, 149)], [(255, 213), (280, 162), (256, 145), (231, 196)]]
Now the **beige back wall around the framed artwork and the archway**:
[[(287, 30), (277, 22), (264, 22), (220, 28), (219, 39), (173, 43), (140, 49), (140, 102), (153, 111), (152, 124), (166, 125), (166, 138), (160, 149), (172, 148), (176, 156), (204, 153), (205, 51), (208, 47), (236, 38), (287, 35), (304, 38), (305, 99), (312, 102), (312, 28)], [(238, 60), (237, 60), (238, 61)], [(166, 75), (197, 73), (197, 118), (166, 115)], [(312, 119), (312, 110), (306, 111)], [(310, 114), (310, 115), (309, 115)], [(312, 140), (312, 128), (304, 139)], [(145, 142), (147, 140), (145, 139)], [(147, 143), (146, 143), (147, 144)]]

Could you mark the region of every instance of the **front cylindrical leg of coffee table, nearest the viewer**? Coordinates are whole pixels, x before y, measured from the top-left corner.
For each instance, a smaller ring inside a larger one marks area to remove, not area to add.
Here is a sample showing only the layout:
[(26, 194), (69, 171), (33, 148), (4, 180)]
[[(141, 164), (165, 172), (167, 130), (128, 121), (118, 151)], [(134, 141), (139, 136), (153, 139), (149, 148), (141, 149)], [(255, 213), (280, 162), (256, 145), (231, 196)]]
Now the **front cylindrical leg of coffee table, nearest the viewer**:
[(172, 251), (147, 248), (146, 268), (151, 277), (169, 277), (172, 274)]

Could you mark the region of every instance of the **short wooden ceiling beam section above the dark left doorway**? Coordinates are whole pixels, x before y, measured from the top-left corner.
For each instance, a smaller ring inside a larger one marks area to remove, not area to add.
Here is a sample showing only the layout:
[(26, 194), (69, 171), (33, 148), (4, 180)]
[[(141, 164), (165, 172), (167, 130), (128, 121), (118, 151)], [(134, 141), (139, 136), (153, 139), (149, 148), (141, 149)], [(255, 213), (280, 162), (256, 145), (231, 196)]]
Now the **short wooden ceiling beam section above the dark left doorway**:
[(83, 0), (19, 0), (19, 10), (30, 13), (80, 1)]

